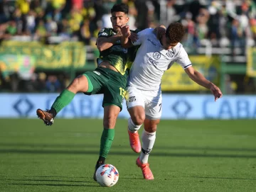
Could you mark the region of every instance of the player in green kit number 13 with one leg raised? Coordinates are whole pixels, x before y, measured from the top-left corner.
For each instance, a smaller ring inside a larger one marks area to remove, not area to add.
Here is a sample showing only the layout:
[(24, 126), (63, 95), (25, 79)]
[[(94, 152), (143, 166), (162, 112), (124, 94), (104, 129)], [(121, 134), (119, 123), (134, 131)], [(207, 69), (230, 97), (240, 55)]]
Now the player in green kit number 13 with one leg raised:
[[(103, 28), (97, 38), (97, 48), (100, 58), (98, 67), (93, 72), (85, 72), (73, 79), (71, 84), (55, 99), (50, 110), (38, 109), (37, 115), (46, 125), (52, 125), (55, 116), (67, 106), (78, 92), (87, 95), (104, 94), (102, 107), (104, 108), (103, 132), (100, 139), (100, 157), (97, 168), (105, 164), (107, 154), (110, 152), (114, 140), (114, 126), (117, 115), (122, 110), (122, 98), (125, 95), (129, 65), (136, 55), (137, 47), (129, 49), (121, 46), (121, 31), (117, 26), (127, 25), (129, 8), (125, 4), (115, 4), (112, 9), (113, 28)], [(95, 175), (94, 175), (95, 179)]]

